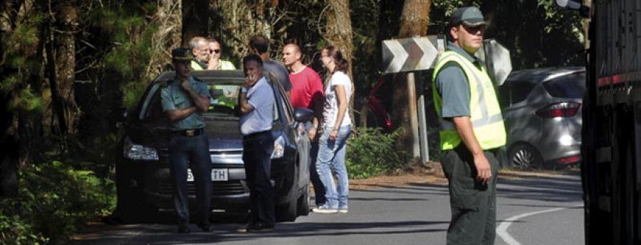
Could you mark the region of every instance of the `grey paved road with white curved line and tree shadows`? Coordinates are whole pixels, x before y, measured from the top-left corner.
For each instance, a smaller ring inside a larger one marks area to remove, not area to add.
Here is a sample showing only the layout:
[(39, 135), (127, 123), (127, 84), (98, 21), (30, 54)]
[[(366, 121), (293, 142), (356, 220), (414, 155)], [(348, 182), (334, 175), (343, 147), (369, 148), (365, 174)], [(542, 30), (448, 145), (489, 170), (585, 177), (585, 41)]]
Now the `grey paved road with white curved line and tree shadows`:
[[(350, 192), (348, 214), (310, 214), (279, 223), (269, 234), (174, 234), (171, 224), (103, 225), (69, 244), (444, 244), (449, 223), (447, 187), (415, 184)], [(497, 245), (583, 244), (578, 176), (500, 180)], [(192, 229), (195, 230), (195, 229)]]

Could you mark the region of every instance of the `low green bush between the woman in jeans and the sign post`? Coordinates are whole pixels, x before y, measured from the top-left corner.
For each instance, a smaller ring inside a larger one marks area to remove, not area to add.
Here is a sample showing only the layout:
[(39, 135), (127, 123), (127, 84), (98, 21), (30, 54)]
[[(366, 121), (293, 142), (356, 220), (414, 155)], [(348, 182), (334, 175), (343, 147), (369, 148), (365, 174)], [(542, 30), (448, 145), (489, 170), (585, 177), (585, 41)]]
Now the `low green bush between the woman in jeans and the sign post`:
[(395, 145), (402, 129), (383, 134), (380, 129), (358, 127), (347, 146), (347, 168), (350, 178), (370, 178), (400, 169), (409, 155)]

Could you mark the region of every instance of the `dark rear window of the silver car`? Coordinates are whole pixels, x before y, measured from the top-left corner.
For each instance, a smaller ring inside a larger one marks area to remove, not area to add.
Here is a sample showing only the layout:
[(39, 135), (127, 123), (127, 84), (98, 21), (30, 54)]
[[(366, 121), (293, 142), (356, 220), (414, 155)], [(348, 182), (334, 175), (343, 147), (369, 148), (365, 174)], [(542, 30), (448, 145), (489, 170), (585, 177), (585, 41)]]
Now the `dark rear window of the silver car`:
[(585, 92), (585, 72), (573, 73), (543, 83), (552, 97), (559, 98), (583, 98)]

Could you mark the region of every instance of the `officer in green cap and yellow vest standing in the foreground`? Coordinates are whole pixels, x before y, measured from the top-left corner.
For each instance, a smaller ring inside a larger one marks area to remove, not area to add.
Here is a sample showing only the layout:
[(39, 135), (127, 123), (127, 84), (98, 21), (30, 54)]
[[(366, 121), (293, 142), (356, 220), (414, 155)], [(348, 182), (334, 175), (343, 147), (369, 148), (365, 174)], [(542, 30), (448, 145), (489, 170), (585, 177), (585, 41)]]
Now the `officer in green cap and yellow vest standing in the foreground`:
[(452, 12), (452, 42), (434, 68), (434, 107), (441, 118), (441, 163), (449, 181), (452, 221), (447, 244), (494, 244), (494, 150), (506, 131), (494, 86), (479, 59), (485, 21), (476, 7)]

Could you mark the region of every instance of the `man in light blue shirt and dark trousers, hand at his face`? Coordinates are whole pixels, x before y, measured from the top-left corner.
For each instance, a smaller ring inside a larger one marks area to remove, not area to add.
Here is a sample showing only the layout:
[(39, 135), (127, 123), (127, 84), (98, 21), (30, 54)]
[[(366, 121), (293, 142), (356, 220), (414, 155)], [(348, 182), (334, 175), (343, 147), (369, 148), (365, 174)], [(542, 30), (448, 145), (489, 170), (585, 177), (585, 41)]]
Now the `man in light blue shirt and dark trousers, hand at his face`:
[(243, 134), (243, 162), (251, 212), (249, 222), (239, 232), (264, 232), (273, 229), (276, 222), (271, 180), (274, 96), (271, 85), (263, 76), (260, 56), (251, 54), (243, 58), (243, 70), (246, 78), (239, 99), (239, 126)]

